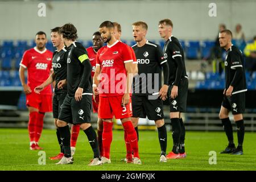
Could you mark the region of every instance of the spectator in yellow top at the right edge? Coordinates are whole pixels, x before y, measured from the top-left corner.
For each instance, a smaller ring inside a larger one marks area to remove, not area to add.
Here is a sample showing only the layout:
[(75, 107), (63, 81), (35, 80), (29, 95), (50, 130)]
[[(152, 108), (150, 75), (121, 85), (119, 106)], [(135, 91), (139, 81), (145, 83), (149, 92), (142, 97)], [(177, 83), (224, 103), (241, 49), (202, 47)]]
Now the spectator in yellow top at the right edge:
[(246, 56), (245, 59), (245, 69), (247, 71), (256, 71), (256, 35), (253, 38), (254, 42), (247, 44), (243, 53)]

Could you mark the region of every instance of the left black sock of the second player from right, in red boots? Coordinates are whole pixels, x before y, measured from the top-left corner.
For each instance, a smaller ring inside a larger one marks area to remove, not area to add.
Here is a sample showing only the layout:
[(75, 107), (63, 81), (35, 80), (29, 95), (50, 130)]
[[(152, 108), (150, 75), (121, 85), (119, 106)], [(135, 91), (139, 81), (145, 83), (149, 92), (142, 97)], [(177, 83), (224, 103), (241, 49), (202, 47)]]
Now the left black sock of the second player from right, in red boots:
[(174, 140), (174, 146), (172, 147), (172, 152), (179, 154), (179, 145), (180, 145), (180, 135), (181, 135), (181, 126), (179, 118), (171, 118), (172, 123), (172, 139)]

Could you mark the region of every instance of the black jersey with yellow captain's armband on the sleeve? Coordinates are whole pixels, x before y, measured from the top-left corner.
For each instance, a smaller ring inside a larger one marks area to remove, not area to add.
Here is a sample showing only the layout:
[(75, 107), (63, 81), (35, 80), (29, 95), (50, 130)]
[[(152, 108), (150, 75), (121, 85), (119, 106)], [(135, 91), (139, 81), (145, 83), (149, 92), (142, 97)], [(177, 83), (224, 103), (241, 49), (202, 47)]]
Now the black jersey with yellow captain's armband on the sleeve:
[[(80, 82), (82, 81), (84, 69), (86, 69), (83, 62), (89, 61), (90, 72), (92, 71), (92, 66), (90, 65), (90, 60), (87, 55), (86, 49), (84, 48), (84, 46), (82, 46), (81, 43), (73, 42), (68, 48), (70, 48), (67, 59), (68, 94), (69, 96), (75, 96), (77, 88), (80, 87)], [(88, 73), (89, 75), (90, 72)], [(85, 81), (82, 89), (84, 89), (82, 94), (92, 95), (91, 76), (89, 76), (88, 80)]]

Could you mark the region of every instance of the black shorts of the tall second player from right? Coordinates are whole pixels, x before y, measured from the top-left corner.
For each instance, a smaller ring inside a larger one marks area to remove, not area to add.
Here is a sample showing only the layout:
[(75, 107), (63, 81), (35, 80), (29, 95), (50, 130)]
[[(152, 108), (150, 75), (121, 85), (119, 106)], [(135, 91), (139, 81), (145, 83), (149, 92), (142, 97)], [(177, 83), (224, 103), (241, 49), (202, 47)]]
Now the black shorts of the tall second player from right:
[(170, 96), (170, 113), (185, 113), (187, 109), (188, 78), (183, 77), (180, 79), (180, 83), (178, 85), (178, 94), (175, 99), (171, 98), (172, 87), (173, 85), (169, 86), (168, 90), (168, 94)]

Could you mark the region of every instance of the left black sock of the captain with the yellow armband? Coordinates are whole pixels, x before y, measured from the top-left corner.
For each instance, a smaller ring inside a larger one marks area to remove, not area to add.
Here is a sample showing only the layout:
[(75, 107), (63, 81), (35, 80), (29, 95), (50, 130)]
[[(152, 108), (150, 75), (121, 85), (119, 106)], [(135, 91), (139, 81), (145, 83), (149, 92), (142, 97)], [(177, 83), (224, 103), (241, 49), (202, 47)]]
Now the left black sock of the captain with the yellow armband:
[(64, 126), (64, 127), (59, 127), (60, 131), (60, 139), (63, 144), (63, 150), (64, 150), (64, 156), (66, 158), (71, 157), (71, 148), (70, 148), (70, 131), (69, 131), (69, 126)]

